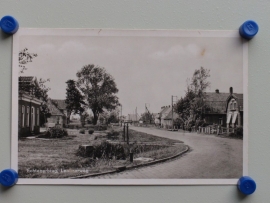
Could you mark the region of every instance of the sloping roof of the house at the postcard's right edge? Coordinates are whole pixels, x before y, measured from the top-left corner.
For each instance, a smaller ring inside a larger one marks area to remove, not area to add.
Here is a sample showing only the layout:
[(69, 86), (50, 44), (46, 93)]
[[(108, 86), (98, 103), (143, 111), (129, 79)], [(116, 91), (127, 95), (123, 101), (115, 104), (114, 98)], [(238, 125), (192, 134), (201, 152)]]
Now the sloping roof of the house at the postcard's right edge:
[[(206, 92), (205, 101), (210, 108), (207, 113), (226, 113), (227, 99), (230, 95), (230, 93), (223, 92)], [(243, 107), (243, 94), (234, 93), (232, 96), (237, 98), (239, 105)], [(240, 108), (240, 110), (243, 109)]]

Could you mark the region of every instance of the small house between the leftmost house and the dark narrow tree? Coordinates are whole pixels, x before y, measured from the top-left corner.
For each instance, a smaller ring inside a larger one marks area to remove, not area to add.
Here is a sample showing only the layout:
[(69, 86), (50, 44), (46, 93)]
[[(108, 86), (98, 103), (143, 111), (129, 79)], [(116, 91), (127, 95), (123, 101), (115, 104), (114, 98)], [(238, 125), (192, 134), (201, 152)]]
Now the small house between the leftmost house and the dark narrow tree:
[(47, 106), (51, 116), (47, 118), (47, 127), (59, 125), (65, 127), (67, 125), (67, 110), (65, 100), (48, 99)]

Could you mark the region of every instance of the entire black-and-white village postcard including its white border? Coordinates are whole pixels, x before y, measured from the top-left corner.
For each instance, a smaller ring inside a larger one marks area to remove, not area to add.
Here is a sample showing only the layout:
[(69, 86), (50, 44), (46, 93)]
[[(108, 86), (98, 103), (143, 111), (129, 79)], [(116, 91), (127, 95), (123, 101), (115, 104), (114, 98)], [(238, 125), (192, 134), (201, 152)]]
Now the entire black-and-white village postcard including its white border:
[(237, 184), (248, 47), (238, 31), (24, 29), (13, 38), (18, 184)]

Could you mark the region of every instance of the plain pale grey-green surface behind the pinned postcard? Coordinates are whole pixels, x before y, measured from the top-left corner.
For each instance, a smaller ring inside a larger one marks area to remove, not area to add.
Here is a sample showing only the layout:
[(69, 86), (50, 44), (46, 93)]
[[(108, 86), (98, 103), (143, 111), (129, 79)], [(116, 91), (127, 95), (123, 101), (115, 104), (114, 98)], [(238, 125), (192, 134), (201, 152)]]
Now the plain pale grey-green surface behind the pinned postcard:
[[(0, 202), (269, 202), (270, 1), (96, 0), (0, 1), (0, 17), (21, 27), (235, 30), (248, 19), (260, 30), (249, 42), (249, 175), (257, 190), (236, 186), (23, 186), (0, 187)], [(0, 33), (0, 170), (10, 167), (12, 37)]]

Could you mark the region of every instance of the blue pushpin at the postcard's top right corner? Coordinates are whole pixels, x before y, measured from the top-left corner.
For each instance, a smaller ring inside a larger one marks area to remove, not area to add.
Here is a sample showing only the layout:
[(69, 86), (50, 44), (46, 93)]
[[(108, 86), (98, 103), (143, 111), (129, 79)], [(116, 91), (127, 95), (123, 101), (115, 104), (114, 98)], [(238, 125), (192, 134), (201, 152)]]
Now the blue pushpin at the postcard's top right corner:
[(253, 20), (248, 20), (239, 28), (240, 35), (245, 39), (252, 39), (259, 31), (259, 26)]

